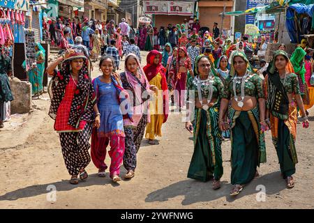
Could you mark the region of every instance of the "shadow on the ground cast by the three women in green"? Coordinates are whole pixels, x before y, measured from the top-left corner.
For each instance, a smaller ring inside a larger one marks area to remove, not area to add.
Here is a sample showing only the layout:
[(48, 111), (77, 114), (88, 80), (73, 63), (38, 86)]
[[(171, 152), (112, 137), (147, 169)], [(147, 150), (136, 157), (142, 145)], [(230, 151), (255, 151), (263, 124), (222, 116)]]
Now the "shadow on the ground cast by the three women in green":
[[(226, 197), (226, 201), (232, 203), (236, 199), (245, 197), (251, 194), (257, 194), (257, 185), (264, 185), (266, 187), (266, 194), (276, 194), (285, 190), (285, 180), (281, 178), (280, 171), (271, 174), (260, 176), (244, 187), (244, 190), (237, 197), (230, 197), (230, 190), (232, 185), (226, 181), (222, 182), (219, 190), (211, 189), (212, 181), (203, 183), (197, 180), (182, 180), (165, 187), (155, 192), (151, 192), (145, 199), (146, 202), (154, 201), (168, 201), (168, 199), (184, 195), (184, 200), (181, 202), (183, 206), (190, 205), (197, 202), (214, 201), (221, 197)], [(255, 197), (254, 197), (255, 199)]]

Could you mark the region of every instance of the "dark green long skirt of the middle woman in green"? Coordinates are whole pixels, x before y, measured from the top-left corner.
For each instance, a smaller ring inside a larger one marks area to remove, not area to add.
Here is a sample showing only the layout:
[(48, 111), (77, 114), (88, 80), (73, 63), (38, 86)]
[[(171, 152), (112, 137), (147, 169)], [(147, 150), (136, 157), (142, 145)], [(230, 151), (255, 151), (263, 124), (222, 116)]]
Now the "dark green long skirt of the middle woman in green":
[(266, 162), (264, 133), (257, 107), (247, 112), (230, 108), (231, 183), (245, 185), (255, 177), (257, 166)]

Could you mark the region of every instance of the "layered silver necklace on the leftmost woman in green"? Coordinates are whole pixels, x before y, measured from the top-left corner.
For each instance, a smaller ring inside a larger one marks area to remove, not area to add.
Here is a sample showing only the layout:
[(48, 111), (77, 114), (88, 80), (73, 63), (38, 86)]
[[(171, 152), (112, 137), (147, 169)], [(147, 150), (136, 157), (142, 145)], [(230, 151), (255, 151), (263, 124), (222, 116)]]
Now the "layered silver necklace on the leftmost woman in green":
[[(207, 105), (209, 102), (211, 102), (211, 98), (213, 98), (213, 93), (214, 93), (214, 79), (213, 76), (211, 75), (211, 72), (209, 73), (207, 79), (201, 80), (199, 77), (195, 77), (193, 80), (193, 84), (197, 86), (197, 94), (198, 94), (198, 100), (200, 101), (200, 104), (202, 105), (202, 109), (207, 111), (209, 109), (209, 106)], [(209, 89), (208, 93), (208, 98), (207, 98), (207, 103), (203, 105), (203, 100), (202, 100), (202, 86), (207, 86)]]

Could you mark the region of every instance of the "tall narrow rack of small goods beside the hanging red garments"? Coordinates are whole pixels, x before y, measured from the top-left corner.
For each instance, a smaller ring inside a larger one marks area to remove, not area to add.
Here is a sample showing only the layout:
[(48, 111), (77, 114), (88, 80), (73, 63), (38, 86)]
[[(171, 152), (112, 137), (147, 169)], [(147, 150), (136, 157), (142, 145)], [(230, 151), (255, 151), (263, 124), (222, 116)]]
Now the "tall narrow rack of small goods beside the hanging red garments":
[(26, 71), (29, 71), (32, 69), (33, 65), (36, 66), (35, 32), (31, 29), (24, 29), (24, 34)]

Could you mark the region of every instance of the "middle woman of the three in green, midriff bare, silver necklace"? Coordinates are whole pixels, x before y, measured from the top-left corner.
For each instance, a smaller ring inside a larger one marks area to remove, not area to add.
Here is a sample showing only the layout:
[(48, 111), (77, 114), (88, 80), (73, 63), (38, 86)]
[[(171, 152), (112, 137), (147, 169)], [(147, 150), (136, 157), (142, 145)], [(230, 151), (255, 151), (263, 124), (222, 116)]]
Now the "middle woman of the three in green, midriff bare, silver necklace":
[[(225, 80), (223, 99), (219, 111), (220, 130), (231, 133), (231, 183), (230, 195), (237, 195), (244, 185), (258, 176), (257, 166), (266, 162), (264, 132), (265, 98), (260, 76), (251, 72), (246, 55), (236, 52), (232, 59), (230, 77)], [(231, 101), (231, 106), (230, 106)]]

